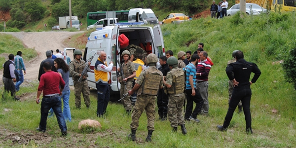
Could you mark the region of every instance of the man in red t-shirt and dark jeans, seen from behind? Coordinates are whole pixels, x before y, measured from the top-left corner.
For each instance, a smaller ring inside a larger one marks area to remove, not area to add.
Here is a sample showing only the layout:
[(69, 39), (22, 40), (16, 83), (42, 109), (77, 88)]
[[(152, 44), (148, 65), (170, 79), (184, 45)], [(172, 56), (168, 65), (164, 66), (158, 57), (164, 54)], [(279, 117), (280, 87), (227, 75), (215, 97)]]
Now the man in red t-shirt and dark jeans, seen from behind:
[(62, 135), (66, 136), (67, 125), (62, 113), (62, 102), (60, 99), (62, 91), (65, 87), (65, 81), (60, 74), (51, 71), (50, 62), (45, 62), (43, 64), (43, 70), (45, 71), (45, 73), (42, 74), (40, 77), (36, 99), (36, 103), (39, 104), (39, 97), (41, 95), (41, 92), (43, 91), (43, 98), (41, 102), (41, 118), (37, 131), (45, 132), (48, 111), (50, 110), (50, 108), (52, 108), (54, 113), (56, 114)]

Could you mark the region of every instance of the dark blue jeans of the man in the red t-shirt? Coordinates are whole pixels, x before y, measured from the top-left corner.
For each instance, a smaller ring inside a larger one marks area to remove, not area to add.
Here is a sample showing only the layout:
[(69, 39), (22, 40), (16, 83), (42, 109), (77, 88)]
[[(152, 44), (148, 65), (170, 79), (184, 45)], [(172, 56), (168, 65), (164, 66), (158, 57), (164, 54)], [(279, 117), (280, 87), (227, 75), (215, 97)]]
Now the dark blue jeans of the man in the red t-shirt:
[(52, 108), (56, 114), (61, 132), (67, 131), (67, 125), (62, 113), (62, 102), (58, 95), (55, 97), (43, 97), (41, 101), (41, 118), (39, 129), (44, 131), (46, 130), (47, 115), (50, 108)]

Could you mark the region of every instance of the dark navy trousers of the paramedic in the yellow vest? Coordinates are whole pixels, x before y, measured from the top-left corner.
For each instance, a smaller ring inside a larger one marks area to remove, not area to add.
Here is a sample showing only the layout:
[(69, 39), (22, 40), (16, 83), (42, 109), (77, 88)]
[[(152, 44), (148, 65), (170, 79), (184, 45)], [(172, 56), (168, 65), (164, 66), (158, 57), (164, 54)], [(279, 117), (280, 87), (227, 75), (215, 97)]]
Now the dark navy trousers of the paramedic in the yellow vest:
[(97, 114), (102, 116), (106, 113), (106, 109), (110, 100), (110, 92), (109, 86), (106, 83), (96, 83), (96, 87), (98, 90), (98, 106), (97, 106)]

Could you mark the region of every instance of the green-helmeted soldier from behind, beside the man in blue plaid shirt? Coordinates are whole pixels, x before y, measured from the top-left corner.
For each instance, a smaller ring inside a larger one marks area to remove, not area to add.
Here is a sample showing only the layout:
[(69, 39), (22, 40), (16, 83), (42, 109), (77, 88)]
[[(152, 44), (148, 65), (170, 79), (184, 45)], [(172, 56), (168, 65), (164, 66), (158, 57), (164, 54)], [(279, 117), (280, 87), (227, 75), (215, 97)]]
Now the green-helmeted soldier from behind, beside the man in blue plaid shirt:
[(167, 63), (171, 71), (167, 73), (167, 81), (163, 77), (163, 84), (165, 91), (169, 94), (168, 118), (174, 132), (177, 132), (178, 125), (181, 125), (182, 134), (186, 135), (187, 130), (182, 113), (185, 100), (184, 70), (178, 68), (178, 60), (175, 57), (169, 57)]

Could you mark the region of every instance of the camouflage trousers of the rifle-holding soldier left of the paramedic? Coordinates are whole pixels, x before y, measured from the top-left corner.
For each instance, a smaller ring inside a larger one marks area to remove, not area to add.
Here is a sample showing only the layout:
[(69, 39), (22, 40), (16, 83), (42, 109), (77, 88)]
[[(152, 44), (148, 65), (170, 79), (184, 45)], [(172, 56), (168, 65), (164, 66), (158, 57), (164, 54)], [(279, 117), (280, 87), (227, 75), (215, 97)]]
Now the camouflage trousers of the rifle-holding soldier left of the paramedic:
[(84, 99), (84, 104), (86, 105), (86, 107), (89, 107), (90, 99), (87, 80), (83, 80), (81, 81), (81, 83), (79, 83), (77, 80), (74, 80), (74, 95), (76, 108), (80, 108), (81, 106), (81, 92)]

